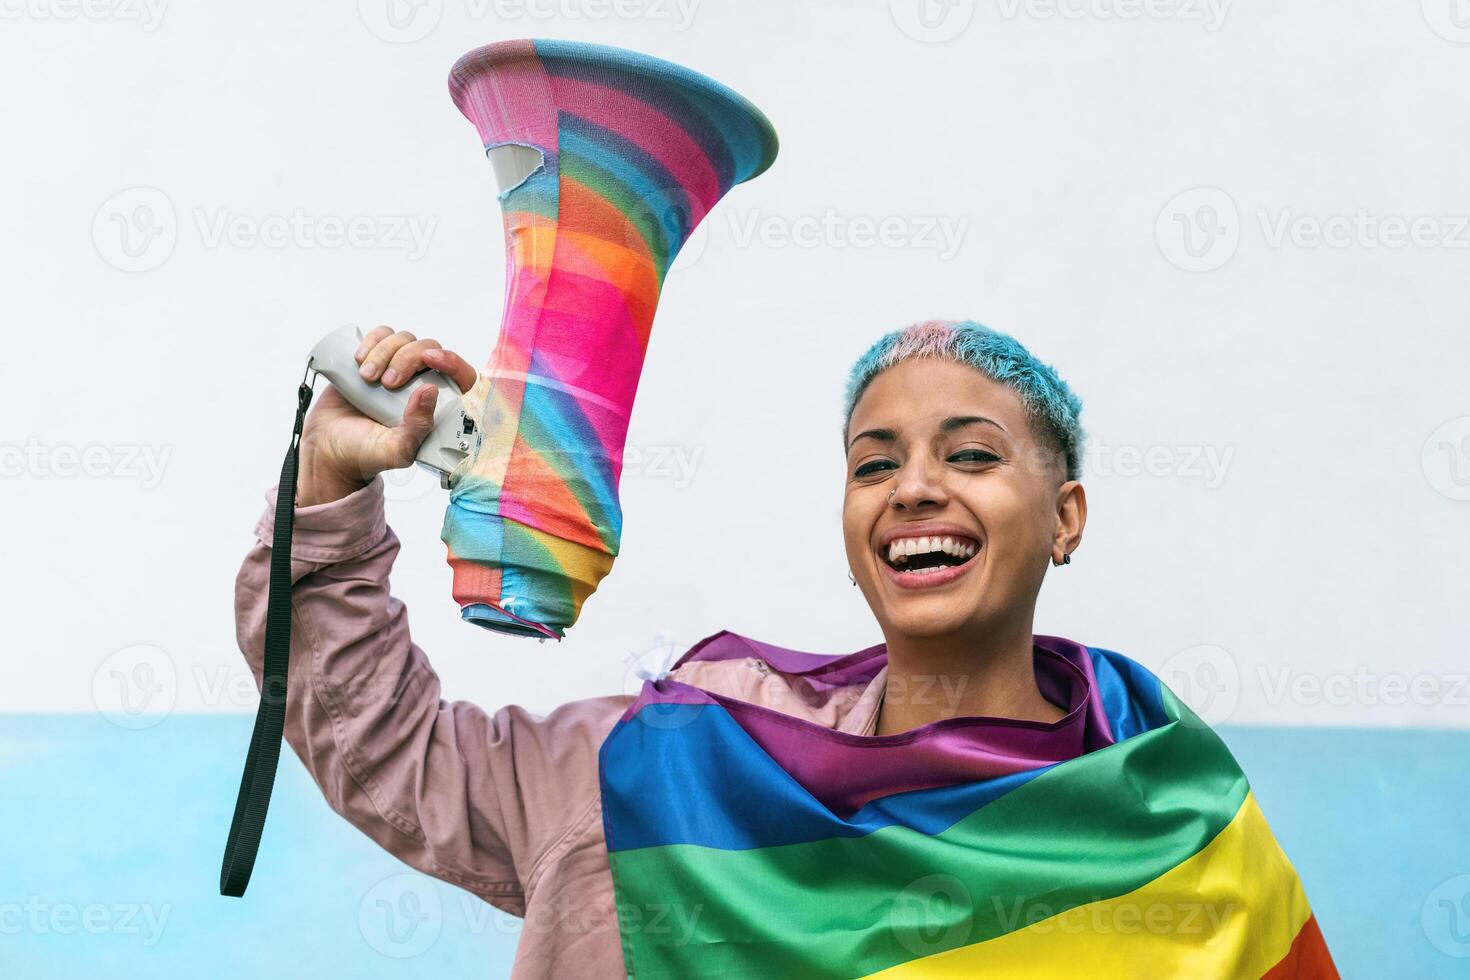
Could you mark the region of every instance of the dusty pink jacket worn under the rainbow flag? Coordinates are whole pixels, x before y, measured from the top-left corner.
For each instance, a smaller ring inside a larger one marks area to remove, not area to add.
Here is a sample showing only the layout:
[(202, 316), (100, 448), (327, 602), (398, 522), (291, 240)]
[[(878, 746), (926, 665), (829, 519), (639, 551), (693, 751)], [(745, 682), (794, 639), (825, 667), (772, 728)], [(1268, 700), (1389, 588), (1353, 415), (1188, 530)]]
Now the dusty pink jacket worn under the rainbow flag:
[[(275, 488), (235, 580), (235, 632), (260, 686)], [(603, 839), (597, 751), (632, 695), (547, 716), (444, 701), (388, 591), (398, 538), (384, 483), (295, 511), (285, 739), (348, 823), (406, 864), (525, 918), (512, 977), (626, 976)], [(469, 641), (469, 638), (466, 638)], [(872, 735), (886, 669), (813, 705), (748, 658), (670, 676)]]

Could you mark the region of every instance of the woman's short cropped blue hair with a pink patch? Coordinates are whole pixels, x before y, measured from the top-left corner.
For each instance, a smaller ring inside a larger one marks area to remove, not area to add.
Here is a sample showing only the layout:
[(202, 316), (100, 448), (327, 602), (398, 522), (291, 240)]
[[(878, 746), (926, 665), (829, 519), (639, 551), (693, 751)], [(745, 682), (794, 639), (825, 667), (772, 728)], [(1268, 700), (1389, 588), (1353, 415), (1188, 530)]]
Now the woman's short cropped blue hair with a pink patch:
[(925, 320), (882, 335), (867, 348), (847, 378), (842, 410), (842, 448), (853, 422), (853, 408), (873, 378), (914, 357), (942, 357), (969, 364), (991, 381), (1011, 388), (1026, 407), (1032, 432), (1067, 461), (1067, 479), (1080, 479), (1082, 400), (1057, 372), (1008, 334), (975, 320)]

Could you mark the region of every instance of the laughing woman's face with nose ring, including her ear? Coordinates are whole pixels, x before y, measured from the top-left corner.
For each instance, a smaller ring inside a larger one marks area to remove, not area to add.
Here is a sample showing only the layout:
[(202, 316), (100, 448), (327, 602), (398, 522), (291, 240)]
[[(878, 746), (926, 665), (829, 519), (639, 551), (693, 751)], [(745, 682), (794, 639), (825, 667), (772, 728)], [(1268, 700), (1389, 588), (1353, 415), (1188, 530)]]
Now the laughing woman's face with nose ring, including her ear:
[(967, 364), (910, 359), (869, 383), (847, 439), (847, 558), (883, 633), (1029, 621), (1086, 501), (1020, 395)]

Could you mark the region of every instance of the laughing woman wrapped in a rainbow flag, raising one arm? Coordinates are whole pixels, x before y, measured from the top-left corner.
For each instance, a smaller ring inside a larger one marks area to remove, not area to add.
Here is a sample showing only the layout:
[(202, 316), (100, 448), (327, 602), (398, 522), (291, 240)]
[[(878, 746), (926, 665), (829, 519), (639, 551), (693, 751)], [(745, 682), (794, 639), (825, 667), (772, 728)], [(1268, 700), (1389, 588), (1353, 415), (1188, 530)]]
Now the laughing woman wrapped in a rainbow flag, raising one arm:
[[(362, 373), (476, 372), (378, 328)], [(517, 977), (1335, 977), (1223, 743), (1113, 651), (1033, 635), (1082, 542), (1080, 401), (929, 322), (847, 385), (842, 529), (883, 642), (714, 633), (639, 695), (440, 699), (388, 592), (382, 470), (428, 432), (325, 391), (301, 439), (285, 738), (407, 864), (525, 917)], [(259, 682), (270, 504), (240, 572)], [(304, 649), (301, 649), (304, 646)]]

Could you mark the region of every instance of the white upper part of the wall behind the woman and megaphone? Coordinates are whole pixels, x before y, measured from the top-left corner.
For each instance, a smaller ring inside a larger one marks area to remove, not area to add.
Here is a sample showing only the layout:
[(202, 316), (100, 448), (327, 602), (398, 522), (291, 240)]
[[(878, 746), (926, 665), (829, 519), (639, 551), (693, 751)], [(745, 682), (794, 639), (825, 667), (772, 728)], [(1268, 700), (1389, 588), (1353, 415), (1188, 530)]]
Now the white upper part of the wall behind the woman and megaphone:
[[(382, 322), (484, 361), (500, 225), (445, 75), (531, 35), (711, 73), (782, 150), (669, 279), (623, 554), (560, 646), (463, 624), (441, 492), (392, 483), (394, 588), (448, 696), (622, 689), (662, 630), (876, 642), (841, 386), (947, 316), (1086, 403), (1091, 520), (1038, 632), (1213, 720), (1470, 723), (1463, 0), (388, 1), (0, 0), (0, 710), (126, 714), (122, 677), (151, 710), (253, 711), (232, 580), (306, 350)], [(293, 216), (303, 241), (250, 238)], [(323, 235), (353, 217), (372, 242)]]

